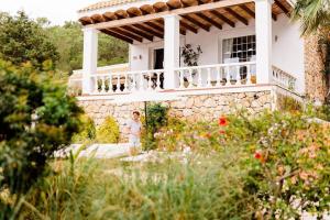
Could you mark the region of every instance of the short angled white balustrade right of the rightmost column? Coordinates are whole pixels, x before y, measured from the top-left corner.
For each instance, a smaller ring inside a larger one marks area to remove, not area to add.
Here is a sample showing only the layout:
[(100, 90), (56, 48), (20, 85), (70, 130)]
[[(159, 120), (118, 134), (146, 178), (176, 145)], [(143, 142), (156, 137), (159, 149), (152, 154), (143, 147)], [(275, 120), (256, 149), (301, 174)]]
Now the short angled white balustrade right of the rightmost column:
[(296, 89), (296, 80), (297, 79), (293, 75), (282, 70), (276, 66), (273, 66), (272, 81), (274, 84), (294, 91)]

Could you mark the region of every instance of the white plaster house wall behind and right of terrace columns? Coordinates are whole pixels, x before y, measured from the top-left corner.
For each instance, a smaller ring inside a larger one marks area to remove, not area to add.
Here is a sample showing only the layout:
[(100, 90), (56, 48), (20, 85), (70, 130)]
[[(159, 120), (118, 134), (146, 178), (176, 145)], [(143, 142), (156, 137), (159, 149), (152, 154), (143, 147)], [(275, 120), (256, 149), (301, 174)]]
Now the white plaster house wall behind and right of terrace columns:
[[(180, 36), (180, 45), (200, 45), (202, 54), (199, 57), (199, 65), (222, 63), (222, 40), (237, 36), (255, 34), (254, 20), (250, 20), (249, 25), (240, 22), (235, 28), (224, 24), (222, 30), (215, 26), (209, 32), (199, 30), (198, 34), (187, 32), (186, 36)], [(155, 42), (134, 43), (130, 45), (130, 69), (145, 70), (153, 67), (153, 48), (162, 48), (163, 40)], [(290, 20), (280, 14), (277, 21), (273, 21), (273, 65), (294, 75), (297, 78), (297, 92), (305, 92), (305, 69), (304, 69), (304, 40), (300, 38), (299, 24), (292, 23)], [(180, 62), (182, 66), (183, 62)]]

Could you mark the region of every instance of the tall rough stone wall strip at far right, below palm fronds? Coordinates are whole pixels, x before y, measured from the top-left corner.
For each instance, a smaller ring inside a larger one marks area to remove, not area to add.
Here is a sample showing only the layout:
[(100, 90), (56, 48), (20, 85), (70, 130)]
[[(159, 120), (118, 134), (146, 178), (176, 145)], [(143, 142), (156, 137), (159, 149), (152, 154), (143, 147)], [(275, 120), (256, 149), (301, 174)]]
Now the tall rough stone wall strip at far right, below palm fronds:
[(320, 56), (318, 36), (305, 37), (305, 87), (312, 100), (323, 101), (327, 95), (324, 65)]

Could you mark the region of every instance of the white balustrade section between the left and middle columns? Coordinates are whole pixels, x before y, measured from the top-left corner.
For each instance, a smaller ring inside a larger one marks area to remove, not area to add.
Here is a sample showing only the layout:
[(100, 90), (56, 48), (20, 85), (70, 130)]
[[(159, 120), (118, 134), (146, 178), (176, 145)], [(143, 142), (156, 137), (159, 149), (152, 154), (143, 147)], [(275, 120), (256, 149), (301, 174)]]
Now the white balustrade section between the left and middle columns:
[(92, 94), (119, 94), (163, 89), (164, 70), (127, 72), (91, 75)]

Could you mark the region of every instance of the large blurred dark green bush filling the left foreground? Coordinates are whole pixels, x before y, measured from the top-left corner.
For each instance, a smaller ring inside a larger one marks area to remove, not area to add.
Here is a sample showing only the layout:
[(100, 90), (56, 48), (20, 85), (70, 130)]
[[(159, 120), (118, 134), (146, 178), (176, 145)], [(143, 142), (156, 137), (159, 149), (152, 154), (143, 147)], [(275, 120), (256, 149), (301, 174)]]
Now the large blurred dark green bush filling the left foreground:
[(47, 160), (78, 131), (81, 109), (48, 75), (53, 72), (0, 62), (0, 219), (15, 218)]

